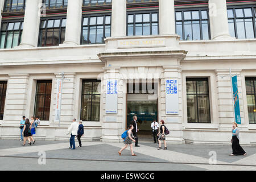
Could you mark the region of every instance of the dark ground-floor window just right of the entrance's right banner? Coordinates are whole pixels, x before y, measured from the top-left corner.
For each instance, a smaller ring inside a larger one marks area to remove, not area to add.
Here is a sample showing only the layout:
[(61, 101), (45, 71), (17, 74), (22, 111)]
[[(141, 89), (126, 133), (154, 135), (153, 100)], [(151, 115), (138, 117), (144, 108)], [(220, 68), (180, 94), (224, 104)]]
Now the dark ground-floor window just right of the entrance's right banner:
[(210, 123), (208, 78), (187, 78), (188, 123)]

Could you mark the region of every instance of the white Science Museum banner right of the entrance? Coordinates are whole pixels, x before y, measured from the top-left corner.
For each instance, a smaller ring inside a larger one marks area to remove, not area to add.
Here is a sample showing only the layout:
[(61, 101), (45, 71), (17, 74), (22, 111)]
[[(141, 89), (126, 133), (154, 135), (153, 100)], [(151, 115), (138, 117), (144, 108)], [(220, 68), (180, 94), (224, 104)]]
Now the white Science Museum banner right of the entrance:
[(179, 114), (177, 78), (166, 79), (166, 114)]

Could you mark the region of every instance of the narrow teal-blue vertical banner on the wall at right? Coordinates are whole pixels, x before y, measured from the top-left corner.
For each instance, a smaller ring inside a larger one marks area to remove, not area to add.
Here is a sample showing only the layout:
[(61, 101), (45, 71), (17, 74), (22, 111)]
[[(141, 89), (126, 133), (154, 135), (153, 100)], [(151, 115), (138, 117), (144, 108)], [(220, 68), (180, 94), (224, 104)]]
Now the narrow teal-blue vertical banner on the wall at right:
[(237, 76), (232, 77), (232, 87), (233, 87), (233, 104), (234, 104), (234, 113), (235, 113), (236, 123), (241, 124)]

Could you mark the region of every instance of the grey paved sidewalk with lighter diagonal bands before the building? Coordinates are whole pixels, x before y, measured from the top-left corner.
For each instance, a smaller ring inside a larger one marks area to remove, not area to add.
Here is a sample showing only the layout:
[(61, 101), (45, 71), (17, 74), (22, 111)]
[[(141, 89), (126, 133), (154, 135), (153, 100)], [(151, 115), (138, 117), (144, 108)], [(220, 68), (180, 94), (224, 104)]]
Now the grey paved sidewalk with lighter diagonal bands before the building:
[[(78, 144), (78, 143), (76, 143)], [(123, 143), (83, 142), (82, 148), (69, 150), (67, 141), (36, 140), (35, 145), (21, 146), (17, 140), (0, 140), (0, 170), (256, 170), (256, 147), (243, 147), (247, 156), (229, 156), (231, 146), (168, 144), (157, 150), (154, 143), (139, 143), (118, 155)], [(46, 165), (39, 165), (40, 151), (46, 152)], [(209, 164), (209, 152), (216, 152), (217, 165)], [(2, 165), (3, 164), (3, 165)], [(102, 164), (102, 165), (101, 165)], [(134, 168), (135, 167), (135, 168)]]

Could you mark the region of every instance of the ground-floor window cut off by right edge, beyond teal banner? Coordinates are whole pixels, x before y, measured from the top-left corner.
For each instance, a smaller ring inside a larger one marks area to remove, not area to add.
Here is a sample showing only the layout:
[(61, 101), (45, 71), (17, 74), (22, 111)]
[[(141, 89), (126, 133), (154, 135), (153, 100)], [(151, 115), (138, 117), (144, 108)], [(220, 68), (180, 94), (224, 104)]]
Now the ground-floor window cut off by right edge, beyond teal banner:
[(250, 124), (256, 124), (256, 77), (245, 78), (248, 117)]

